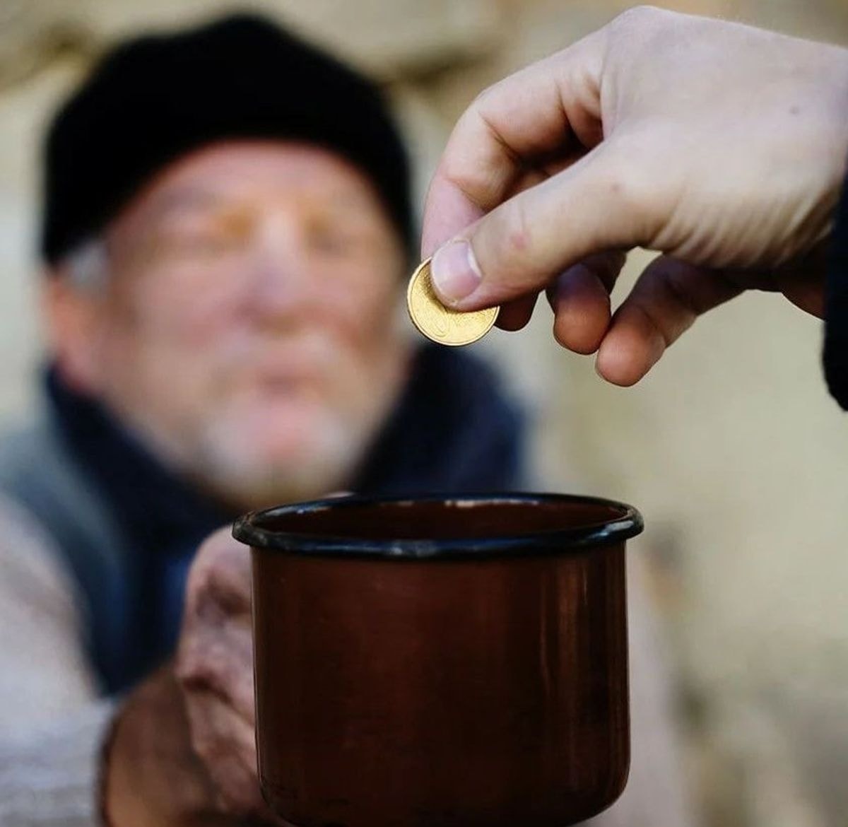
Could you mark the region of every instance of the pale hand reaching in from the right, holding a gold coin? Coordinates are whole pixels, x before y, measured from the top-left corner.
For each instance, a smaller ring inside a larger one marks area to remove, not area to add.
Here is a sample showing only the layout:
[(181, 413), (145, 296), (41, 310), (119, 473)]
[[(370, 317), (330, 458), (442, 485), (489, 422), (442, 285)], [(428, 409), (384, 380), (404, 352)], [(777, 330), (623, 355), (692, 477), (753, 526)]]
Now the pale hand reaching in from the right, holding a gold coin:
[[(848, 51), (634, 8), (489, 88), (450, 137), (424, 214), (460, 310), (538, 293), (555, 338), (633, 384), (696, 316), (745, 289), (821, 315), (848, 156)], [(660, 251), (611, 317), (636, 246)]]

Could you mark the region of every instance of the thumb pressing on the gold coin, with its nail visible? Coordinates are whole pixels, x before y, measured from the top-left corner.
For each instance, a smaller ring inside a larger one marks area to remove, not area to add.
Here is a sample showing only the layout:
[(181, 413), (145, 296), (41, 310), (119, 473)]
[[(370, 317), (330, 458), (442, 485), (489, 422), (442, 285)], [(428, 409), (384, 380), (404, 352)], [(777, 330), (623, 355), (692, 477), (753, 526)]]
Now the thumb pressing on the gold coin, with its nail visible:
[(644, 243), (660, 225), (658, 203), (656, 182), (633, 157), (601, 144), (439, 248), (433, 286), (456, 310), (537, 293), (589, 255)]

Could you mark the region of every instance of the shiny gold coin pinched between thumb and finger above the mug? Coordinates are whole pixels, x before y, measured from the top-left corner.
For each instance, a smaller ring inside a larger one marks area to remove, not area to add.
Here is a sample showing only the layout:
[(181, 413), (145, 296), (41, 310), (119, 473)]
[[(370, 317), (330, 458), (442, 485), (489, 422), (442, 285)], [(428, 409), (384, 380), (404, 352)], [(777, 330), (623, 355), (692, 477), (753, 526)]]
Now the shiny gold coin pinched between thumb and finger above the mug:
[(410, 319), (427, 338), (438, 344), (456, 346), (471, 344), (483, 338), (498, 318), (499, 307), (461, 313), (445, 307), (438, 299), (430, 281), (430, 260), (422, 261), (406, 288), (406, 307)]

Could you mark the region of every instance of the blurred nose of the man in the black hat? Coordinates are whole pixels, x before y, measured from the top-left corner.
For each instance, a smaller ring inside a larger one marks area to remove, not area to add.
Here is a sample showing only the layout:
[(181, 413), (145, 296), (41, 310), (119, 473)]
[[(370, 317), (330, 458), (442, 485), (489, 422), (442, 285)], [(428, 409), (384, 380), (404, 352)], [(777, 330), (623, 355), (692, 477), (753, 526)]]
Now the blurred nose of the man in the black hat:
[(267, 212), (254, 228), (247, 279), (255, 316), (279, 324), (304, 315), (315, 287), (310, 252), (297, 215)]

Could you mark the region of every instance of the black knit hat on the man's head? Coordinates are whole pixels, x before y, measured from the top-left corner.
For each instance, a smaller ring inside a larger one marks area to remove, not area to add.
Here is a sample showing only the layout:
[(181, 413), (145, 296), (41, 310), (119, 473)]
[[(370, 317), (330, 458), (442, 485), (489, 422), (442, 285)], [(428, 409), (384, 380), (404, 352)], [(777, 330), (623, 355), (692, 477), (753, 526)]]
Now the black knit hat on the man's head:
[(276, 25), (239, 14), (123, 42), (47, 133), (42, 254), (98, 232), (163, 166), (210, 142), (303, 140), (370, 177), (412, 245), (409, 164), (371, 81)]

